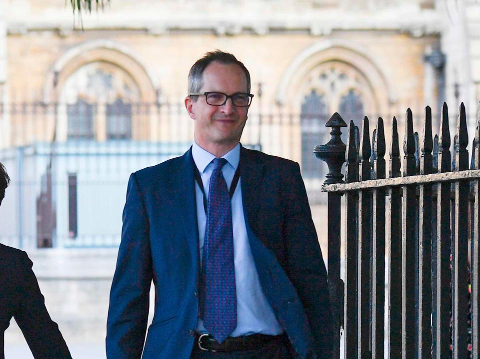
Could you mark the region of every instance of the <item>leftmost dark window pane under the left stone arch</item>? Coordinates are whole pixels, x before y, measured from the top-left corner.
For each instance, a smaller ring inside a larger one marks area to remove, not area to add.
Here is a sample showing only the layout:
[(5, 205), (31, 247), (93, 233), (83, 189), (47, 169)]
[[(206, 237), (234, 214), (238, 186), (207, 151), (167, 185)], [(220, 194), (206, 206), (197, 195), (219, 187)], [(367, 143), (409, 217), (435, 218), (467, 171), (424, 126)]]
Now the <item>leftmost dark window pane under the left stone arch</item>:
[(68, 139), (93, 138), (93, 106), (82, 99), (66, 106)]

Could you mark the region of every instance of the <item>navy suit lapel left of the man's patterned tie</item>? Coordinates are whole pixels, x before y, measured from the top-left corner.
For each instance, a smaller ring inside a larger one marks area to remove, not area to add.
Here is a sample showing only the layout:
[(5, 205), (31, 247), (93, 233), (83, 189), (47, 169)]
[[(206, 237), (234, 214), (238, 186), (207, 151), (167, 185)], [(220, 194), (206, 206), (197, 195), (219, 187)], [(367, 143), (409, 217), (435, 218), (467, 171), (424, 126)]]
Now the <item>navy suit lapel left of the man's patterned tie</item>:
[(173, 176), (173, 193), (178, 208), (173, 213), (178, 213), (190, 249), (193, 268), (199, 266), (198, 251), (198, 225), (196, 218), (195, 183), (193, 176), (193, 158), (190, 149), (182, 156), (182, 164)]

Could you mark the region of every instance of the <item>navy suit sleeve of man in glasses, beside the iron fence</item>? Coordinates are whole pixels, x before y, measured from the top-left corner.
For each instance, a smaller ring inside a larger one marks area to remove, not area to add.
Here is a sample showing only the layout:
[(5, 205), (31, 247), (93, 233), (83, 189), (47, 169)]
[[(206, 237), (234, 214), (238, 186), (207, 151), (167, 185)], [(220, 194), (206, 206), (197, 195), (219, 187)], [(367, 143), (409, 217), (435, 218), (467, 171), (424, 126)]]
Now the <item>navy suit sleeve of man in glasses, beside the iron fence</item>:
[(288, 275), (302, 301), (316, 343), (318, 358), (331, 358), (333, 327), (327, 273), (300, 168), (289, 172), (291, 182), (285, 198), (283, 238), (288, 253)]

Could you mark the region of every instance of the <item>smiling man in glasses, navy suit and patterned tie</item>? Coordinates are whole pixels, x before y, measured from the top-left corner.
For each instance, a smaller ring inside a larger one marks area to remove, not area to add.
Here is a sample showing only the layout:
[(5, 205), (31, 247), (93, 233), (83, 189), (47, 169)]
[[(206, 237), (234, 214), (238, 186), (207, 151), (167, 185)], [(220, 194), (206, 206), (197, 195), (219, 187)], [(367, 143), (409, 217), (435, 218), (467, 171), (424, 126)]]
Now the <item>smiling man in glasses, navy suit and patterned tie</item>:
[(299, 166), (241, 147), (249, 91), (233, 55), (205, 54), (188, 75), (192, 147), (130, 176), (107, 358), (330, 358), (327, 275)]

